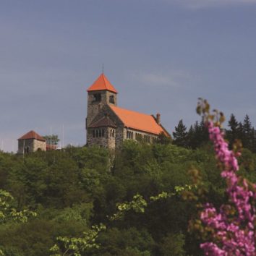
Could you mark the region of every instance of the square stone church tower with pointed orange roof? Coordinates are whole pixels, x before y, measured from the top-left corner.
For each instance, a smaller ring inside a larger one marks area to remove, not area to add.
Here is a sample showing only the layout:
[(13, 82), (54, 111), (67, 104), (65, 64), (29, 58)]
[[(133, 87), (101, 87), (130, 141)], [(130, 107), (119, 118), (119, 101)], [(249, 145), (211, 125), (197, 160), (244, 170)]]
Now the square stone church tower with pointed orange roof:
[(117, 91), (108, 81), (105, 74), (101, 74), (93, 85), (88, 88), (88, 106), (86, 128), (92, 124), (95, 116), (101, 111), (101, 108), (108, 104), (116, 106)]

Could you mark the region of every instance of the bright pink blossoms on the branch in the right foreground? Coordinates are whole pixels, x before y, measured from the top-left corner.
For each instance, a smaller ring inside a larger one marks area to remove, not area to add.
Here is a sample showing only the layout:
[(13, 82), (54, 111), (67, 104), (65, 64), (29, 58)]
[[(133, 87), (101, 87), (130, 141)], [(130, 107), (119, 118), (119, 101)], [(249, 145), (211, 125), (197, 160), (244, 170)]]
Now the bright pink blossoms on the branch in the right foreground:
[[(213, 242), (205, 242), (200, 247), (205, 255), (256, 255), (255, 252), (255, 192), (252, 192), (246, 179), (239, 181), (236, 156), (229, 150), (223, 132), (208, 122), (210, 140), (214, 144), (216, 158), (224, 166), (221, 176), (226, 179), (229, 205), (222, 205), (217, 211), (207, 203), (200, 218), (202, 223), (213, 231)], [(232, 208), (236, 214), (230, 215)]]

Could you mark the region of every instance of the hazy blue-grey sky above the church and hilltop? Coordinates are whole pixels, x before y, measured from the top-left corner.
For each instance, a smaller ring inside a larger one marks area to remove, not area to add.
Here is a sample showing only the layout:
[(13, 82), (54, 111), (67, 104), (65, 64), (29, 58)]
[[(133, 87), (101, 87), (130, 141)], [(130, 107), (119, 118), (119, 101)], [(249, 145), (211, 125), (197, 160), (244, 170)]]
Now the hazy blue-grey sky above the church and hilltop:
[(169, 132), (198, 119), (198, 97), (256, 126), (256, 0), (0, 0), (0, 148), (63, 125), (84, 145), (103, 63), (119, 106)]

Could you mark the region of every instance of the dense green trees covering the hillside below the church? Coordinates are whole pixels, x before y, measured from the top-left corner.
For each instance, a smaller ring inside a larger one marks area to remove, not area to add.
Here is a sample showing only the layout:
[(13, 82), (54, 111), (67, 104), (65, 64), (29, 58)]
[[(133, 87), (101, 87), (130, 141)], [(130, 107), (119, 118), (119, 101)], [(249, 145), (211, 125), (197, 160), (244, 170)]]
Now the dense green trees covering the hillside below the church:
[[(17, 213), (25, 207), (38, 213), (26, 223), (13, 221), (12, 216), (2, 221), (1, 251), (9, 256), (45, 256), (56, 244), (56, 253), (63, 254), (65, 242), (67, 249), (72, 242), (79, 249), (82, 243), (72, 238), (84, 239), (83, 232), (104, 223), (106, 231), (95, 238), (100, 247), (77, 253), (162, 256), (171, 250), (176, 255), (200, 255), (199, 241), (187, 232), (196, 205), (183, 198), (201, 188), (186, 187), (195, 179), (188, 170), (200, 170), (206, 199), (215, 205), (226, 199), (213, 150), (207, 142), (201, 144), (194, 150), (129, 140), (115, 158), (96, 147), (37, 152), (24, 158), (0, 153), (0, 189), (14, 197), (3, 195), (10, 205), (8, 216), (12, 208)], [(255, 182), (255, 153), (244, 150), (239, 161), (242, 174)], [(118, 218), (111, 221), (115, 213)]]

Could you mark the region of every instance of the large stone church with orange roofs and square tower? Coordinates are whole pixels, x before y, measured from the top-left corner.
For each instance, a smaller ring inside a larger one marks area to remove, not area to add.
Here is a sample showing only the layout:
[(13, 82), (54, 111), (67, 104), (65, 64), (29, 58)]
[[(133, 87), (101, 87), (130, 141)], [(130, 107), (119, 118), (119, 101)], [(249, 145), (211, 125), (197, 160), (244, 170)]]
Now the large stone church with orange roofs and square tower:
[(170, 137), (161, 125), (160, 114), (141, 114), (117, 106), (117, 91), (101, 74), (88, 88), (86, 118), (87, 144), (115, 149), (124, 140), (153, 143), (163, 133)]

